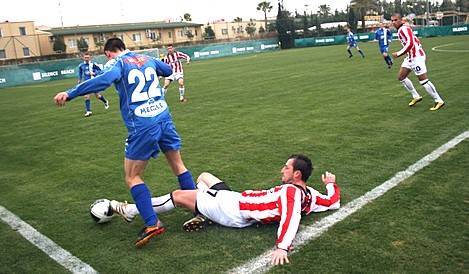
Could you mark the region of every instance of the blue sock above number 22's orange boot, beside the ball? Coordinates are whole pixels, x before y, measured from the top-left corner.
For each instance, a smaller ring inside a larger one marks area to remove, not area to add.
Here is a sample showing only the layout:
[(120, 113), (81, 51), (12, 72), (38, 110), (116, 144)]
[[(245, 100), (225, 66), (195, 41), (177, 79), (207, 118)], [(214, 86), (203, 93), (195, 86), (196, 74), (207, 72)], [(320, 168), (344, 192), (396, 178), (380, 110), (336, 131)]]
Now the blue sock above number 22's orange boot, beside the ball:
[(134, 198), (134, 202), (137, 205), (138, 212), (142, 219), (145, 221), (145, 226), (156, 225), (158, 217), (153, 211), (153, 205), (151, 204), (151, 193), (145, 183), (134, 185), (130, 189), (130, 193)]

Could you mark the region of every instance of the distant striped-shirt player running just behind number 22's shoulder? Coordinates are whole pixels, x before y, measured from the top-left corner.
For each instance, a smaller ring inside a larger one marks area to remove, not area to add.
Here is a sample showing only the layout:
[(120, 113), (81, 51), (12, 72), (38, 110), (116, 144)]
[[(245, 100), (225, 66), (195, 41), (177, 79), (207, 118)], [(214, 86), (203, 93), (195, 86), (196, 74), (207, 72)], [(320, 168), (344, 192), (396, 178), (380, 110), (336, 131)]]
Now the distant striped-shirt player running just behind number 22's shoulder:
[(189, 64), (191, 58), (189, 55), (176, 51), (173, 45), (168, 45), (168, 54), (163, 58), (164, 62), (171, 66), (173, 74), (166, 77), (164, 80), (163, 91), (166, 93), (169, 85), (172, 81), (178, 81), (179, 84), (179, 101), (181, 103), (186, 102), (185, 89), (184, 89), (184, 70), (182, 68), (182, 63), (180, 59), (185, 59), (186, 64)]

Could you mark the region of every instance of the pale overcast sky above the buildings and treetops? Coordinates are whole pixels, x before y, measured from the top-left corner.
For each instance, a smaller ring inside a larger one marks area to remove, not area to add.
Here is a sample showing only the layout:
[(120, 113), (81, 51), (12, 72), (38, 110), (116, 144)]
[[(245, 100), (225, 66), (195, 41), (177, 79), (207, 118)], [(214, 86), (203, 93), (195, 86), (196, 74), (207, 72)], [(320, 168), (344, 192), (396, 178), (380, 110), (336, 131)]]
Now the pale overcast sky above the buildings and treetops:
[[(6, 0), (0, 6), (0, 21), (34, 21), (36, 26), (50, 27), (115, 24), (124, 22), (176, 20), (184, 13), (195, 23), (213, 22), (219, 19), (233, 21), (263, 19), (257, 4), (263, 0)], [(269, 0), (267, 0), (269, 1)], [(274, 7), (268, 16), (277, 14), (277, 0), (270, 0)], [(328, 4), (332, 11), (345, 10), (350, 0), (284, 0), (289, 11), (303, 13), (307, 9), (316, 12), (318, 6)], [(307, 5), (307, 6), (305, 6)]]

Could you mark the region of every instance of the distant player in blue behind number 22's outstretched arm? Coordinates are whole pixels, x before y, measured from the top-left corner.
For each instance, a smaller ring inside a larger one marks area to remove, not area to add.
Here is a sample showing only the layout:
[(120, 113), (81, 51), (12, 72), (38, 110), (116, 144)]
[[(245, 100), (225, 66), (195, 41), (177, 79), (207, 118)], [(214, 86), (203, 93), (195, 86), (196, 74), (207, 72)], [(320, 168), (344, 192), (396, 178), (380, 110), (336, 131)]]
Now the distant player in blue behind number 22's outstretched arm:
[[(89, 53), (85, 53), (83, 55), (83, 63), (80, 64), (78, 67), (78, 84), (82, 81), (89, 80), (94, 78), (101, 72), (101, 68), (96, 65), (95, 63), (91, 62), (91, 55)], [(104, 98), (99, 92), (94, 92), (94, 95), (97, 99), (99, 99), (104, 104), (104, 108), (109, 108), (109, 101)], [(87, 94), (85, 97), (85, 117), (91, 116), (93, 112), (91, 112), (91, 100), (90, 95)]]

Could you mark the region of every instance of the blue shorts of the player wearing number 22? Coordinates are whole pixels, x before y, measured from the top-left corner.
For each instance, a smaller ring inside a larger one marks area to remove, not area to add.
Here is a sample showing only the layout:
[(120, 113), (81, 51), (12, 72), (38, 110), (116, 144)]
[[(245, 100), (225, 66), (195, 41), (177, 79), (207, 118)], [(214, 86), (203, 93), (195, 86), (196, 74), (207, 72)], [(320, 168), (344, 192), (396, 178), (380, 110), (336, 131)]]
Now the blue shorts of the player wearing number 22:
[(125, 142), (125, 157), (130, 160), (156, 158), (161, 151), (179, 150), (181, 138), (171, 120), (161, 121), (157, 126), (138, 134), (131, 134)]

